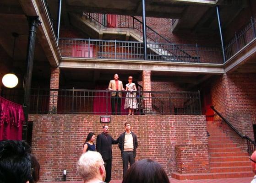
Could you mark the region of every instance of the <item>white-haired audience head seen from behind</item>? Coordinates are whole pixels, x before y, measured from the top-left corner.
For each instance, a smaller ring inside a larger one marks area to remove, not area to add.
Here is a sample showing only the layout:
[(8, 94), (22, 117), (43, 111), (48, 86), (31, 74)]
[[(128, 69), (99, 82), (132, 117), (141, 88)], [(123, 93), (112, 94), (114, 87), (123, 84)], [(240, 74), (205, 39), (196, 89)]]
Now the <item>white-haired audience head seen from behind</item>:
[(98, 178), (102, 182), (105, 180), (106, 171), (104, 161), (101, 154), (96, 151), (83, 153), (76, 167), (85, 183), (95, 178)]

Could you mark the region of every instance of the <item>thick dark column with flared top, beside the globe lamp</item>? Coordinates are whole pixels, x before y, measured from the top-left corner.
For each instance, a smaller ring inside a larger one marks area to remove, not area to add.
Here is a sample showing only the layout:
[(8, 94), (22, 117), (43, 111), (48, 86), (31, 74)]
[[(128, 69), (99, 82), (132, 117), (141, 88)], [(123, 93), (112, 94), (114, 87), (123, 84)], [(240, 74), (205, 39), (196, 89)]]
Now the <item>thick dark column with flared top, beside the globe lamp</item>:
[(38, 16), (27, 16), (27, 21), (29, 24), (29, 36), (27, 43), (27, 74), (24, 81), (24, 115), (25, 115), (25, 125), (22, 128), (22, 139), (27, 140), (27, 120), (30, 107), (30, 89), (32, 80), (32, 70), (33, 70), (33, 60), (35, 53), (35, 43), (36, 43), (36, 32), (38, 26), (41, 24)]

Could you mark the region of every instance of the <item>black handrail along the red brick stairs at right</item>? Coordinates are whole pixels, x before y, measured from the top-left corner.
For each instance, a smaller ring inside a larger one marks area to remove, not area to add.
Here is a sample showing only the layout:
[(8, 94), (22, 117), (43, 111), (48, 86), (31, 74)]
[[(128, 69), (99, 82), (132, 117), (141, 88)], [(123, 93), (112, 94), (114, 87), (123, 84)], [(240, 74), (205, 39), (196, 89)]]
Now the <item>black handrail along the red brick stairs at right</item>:
[(248, 137), (247, 135), (242, 135), (236, 128), (234, 128), (234, 126), (232, 124), (230, 124), (227, 119), (225, 119), (213, 106), (211, 106), (212, 110), (218, 114), (218, 116), (220, 118), (222, 118), (222, 120), (229, 125), (229, 127), (231, 129), (234, 130), (234, 132), (239, 135), (242, 139), (245, 139), (247, 142), (247, 152), (249, 153), (249, 155), (251, 156), (251, 154), (256, 150), (256, 143), (251, 140), (250, 137)]

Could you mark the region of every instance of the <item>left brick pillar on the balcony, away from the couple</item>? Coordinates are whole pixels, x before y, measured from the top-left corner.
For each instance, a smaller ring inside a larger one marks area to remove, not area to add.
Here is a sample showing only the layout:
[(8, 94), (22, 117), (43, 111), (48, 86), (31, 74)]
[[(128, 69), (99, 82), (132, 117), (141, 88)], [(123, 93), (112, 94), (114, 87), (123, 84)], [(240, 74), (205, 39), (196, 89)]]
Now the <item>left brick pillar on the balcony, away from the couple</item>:
[[(51, 81), (50, 89), (59, 89), (60, 81), (60, 68), (52, 67), (51, 68)], [(50, 91), (49, 97), (49, 113), (56, 113), (58, 105), (58, 91)]]

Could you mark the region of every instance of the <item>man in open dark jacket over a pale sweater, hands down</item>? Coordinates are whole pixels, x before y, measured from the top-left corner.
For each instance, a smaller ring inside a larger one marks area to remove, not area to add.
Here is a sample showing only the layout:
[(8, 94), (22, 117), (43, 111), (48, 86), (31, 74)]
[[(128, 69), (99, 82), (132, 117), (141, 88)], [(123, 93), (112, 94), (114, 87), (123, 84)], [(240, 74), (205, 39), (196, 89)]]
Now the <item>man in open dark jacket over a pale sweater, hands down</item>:
[(135, 133), (131, 131), (131, 124), (125, 123), (125, 132), (118, 137), (118, 147), (121, 150), (121, 157), (123, 160), (123, 177), (128, 170), (128, 164), (135, 162), (136, 149), (138, 147), (138, 140)]

